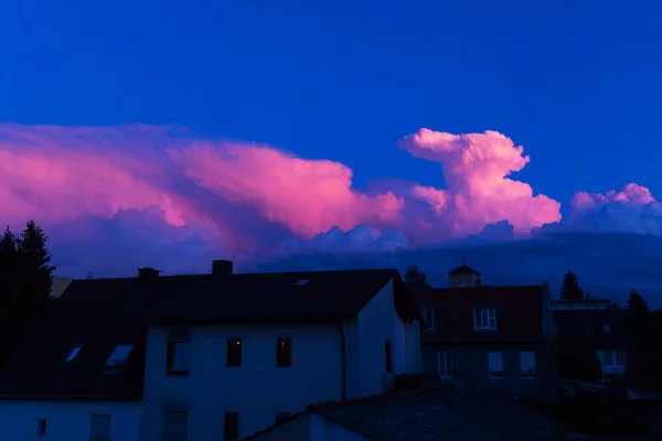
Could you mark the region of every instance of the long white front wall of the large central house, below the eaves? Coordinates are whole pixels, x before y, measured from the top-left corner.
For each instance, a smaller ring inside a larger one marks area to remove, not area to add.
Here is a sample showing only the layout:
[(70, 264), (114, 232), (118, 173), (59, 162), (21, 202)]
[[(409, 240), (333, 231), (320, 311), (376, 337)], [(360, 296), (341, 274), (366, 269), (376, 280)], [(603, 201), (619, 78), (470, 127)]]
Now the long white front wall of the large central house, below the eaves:
[[(191, 329), (191, 376), (167, 377), (166, 329), (150, 329), (146, 359), (142, 441), (161, 439), (164, 408), (189, 410), (189, 439), (223, 437), (225, 411), (239, 413), (239, 435), (271, 426), (277, 412), (342, 397), (337, 325)], [(242, 338), (242, 366), (225, 367), (226, 340)], [(276, 340), (292, 338), (293, 365), (276, 367)]]

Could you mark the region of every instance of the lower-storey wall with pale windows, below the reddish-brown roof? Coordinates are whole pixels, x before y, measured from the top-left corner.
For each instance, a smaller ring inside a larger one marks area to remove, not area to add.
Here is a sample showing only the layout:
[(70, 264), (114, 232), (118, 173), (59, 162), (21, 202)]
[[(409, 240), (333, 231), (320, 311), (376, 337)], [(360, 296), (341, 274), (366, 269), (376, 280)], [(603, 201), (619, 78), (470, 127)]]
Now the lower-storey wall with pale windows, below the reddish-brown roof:
[[(503, 353), (503, 379), (491, 379), (488, 375), (488, 352)], [(520, 352), (536, 353), (537, 379), (522, 378)], [(424, 370), (428, 376), (438, 377), (437, 353), (452, 353), (453, 378), (436, 383), (462, 383), (494, 392), (513, 395), (535, 395), (553, 399), (556, 381), (553, 363), (553, 346), (534, 344), (517, 345), (430, 345), (423, 348)]]

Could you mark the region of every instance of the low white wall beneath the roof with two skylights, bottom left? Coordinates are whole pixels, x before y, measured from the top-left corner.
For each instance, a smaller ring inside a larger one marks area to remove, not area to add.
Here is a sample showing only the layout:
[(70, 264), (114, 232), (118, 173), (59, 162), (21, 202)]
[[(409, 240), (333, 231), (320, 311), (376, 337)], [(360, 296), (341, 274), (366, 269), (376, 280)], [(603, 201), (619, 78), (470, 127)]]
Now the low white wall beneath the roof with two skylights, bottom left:
[[(110, 415), (113, 441), (138, 441), (140, 402), (0, 401), (0, 440), (89, 441), (89, 415)], [(46, 433), (36, 435), (40, 419)]]

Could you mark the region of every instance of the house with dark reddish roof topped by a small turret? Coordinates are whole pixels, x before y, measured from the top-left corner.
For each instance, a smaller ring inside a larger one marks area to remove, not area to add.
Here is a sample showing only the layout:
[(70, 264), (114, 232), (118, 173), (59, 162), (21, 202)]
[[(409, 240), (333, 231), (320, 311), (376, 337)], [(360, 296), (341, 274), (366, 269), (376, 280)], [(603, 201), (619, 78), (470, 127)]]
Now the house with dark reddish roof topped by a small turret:
[(466, 265), (449, 271), (448, 289), (414, 293), (426, 329), (423, 366), (437, 383), (555, 398), (557, 369), (547, 283), (476, 287)]

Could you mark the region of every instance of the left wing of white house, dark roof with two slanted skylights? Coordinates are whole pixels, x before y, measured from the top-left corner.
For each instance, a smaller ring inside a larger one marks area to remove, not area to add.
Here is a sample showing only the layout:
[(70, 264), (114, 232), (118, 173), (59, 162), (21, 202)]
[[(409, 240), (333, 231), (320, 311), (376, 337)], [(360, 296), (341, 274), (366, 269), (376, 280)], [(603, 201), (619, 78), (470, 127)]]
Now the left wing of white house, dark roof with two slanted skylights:
[(197, 278), (72, 281), (0, 372), (0, 439), (139, 440), (143, 313)]

